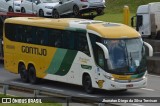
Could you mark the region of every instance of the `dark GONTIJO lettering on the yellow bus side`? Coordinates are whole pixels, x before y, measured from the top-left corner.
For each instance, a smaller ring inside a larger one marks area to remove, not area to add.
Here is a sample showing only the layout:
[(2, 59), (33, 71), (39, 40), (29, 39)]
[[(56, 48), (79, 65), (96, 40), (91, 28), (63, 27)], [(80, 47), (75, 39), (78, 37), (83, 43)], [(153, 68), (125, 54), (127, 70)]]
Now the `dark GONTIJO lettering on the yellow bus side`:
[(22, 53), (47, 56), (47, 50), (42, 49), (42, 48), (40, 49), (40, 48), (36, 48), (36, 47), (22, 46), (21, 50), (22, 50)]

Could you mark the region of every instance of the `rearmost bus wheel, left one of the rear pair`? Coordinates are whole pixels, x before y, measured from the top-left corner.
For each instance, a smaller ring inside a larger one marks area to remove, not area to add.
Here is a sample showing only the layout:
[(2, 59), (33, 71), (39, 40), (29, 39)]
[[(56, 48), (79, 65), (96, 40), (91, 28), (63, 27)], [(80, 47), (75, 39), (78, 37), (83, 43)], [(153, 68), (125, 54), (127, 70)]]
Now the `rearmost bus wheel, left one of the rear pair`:
[(19, 65), (18, 72), (20, 73), (20, 77), (21, 77), (21, 80), (23, 82), (28, 82), (29, 81), (28, 72), (27, 72), (26, 67), (25, 67), (24, 64), (20, 64)]

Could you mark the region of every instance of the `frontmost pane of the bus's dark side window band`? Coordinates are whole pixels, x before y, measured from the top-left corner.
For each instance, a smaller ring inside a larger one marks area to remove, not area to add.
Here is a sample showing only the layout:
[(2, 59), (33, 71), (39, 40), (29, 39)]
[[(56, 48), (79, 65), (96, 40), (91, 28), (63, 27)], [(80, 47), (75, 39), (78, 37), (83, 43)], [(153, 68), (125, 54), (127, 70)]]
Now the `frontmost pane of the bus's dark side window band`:
[(86, 33), (78, 32), (77, 34), (77, 49), (90, 56)]

